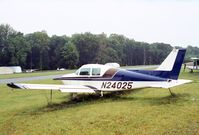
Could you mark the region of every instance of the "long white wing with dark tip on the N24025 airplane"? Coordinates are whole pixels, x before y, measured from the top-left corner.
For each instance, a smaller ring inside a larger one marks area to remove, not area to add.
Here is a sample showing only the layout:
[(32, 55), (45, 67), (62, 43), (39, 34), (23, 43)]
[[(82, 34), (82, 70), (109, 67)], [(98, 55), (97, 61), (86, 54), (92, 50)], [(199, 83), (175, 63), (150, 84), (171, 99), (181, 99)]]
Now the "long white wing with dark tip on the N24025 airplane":
[(69, 93), (95, 93), (96, 88), (81, 85), (52, 85), (52, 84), (26, 84), (26, 83), (8, 83), (7, 86), (16, 89), (33, 90), (59, 90)]

